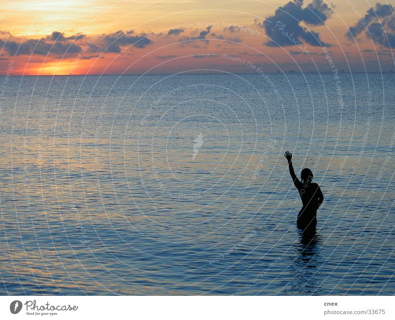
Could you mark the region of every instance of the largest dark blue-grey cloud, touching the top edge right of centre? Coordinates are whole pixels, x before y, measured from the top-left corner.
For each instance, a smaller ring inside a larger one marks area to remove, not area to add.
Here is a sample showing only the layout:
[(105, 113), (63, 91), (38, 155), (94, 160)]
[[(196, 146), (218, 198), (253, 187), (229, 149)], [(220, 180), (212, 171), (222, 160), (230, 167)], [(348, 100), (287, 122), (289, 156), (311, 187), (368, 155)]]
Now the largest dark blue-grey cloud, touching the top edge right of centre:
[(266, 35), (271, 39), (266, 42), (268, 46), (294, 46), (300, 43), (330, 46), (320, 39), (318, 33), (300, 26), (300, 23), (322, 26), (333, 13), (333, 9), (323, 0), (313, 0), (306, 7), (302, 5), (303, 0), (289, 1), (263, 22), (255, 21), (256, 25), (265, 29)]

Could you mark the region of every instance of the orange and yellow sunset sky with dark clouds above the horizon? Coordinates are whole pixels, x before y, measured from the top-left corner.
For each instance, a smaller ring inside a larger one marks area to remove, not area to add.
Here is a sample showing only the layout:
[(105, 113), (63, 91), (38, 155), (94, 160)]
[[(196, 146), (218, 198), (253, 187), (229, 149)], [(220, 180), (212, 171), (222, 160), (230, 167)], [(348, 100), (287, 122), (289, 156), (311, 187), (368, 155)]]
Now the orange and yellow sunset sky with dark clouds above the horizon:
[(0, 74), (395, 71), (395, 0), (9, 0)]

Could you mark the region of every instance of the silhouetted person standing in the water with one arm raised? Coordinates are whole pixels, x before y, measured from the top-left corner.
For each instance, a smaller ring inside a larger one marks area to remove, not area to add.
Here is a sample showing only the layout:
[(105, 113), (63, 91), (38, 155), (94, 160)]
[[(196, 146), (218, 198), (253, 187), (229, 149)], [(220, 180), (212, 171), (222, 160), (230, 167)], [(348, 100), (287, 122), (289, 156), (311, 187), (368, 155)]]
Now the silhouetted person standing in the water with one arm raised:
[(324, 196), (317, 183), (313, 183), (313, 173), (310, 169), (305, 168), (300, 174), (302, 181), (299, 181), (295, 175), (292, 166), (292, 153), (286, 151), (284, 154), (288, 160), (289, 174), (292, 177), (295, 187), (299, 191), (300, 198), (302, 199), (303, 207), (299, 211), (297, 224), (298, 228), (306, 230), (315, 228), (317, 223), (317, 210), (324, 200)]

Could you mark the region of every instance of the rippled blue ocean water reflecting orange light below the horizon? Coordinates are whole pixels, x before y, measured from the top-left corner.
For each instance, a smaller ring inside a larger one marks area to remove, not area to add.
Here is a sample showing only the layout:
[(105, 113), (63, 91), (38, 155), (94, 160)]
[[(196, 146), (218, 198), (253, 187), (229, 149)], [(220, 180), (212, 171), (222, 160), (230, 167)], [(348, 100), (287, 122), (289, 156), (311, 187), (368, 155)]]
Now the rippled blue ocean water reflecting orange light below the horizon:
[(1, 294), (395, 293), (394, 73), (0, 83)]

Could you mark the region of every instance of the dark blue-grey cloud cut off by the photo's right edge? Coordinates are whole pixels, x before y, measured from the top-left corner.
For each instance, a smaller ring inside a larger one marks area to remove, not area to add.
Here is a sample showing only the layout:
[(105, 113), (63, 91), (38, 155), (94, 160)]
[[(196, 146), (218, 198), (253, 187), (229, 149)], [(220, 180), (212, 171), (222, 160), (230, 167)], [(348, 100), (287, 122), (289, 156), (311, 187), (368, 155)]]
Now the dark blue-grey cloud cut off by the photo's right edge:
[(365, 16), (349, 28), (347, 36), (354, 39), (360, 33), (386, 48), (395, 48), (395, 16), (391, 4), (376, 3)]

